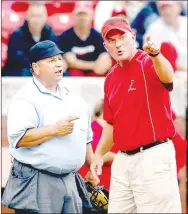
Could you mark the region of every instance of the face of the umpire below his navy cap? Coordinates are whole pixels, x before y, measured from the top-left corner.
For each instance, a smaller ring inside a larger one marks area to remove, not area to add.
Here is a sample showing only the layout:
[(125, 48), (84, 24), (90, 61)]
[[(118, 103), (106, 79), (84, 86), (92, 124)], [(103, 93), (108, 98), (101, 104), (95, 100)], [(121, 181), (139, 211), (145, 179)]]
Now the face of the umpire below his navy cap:
[(63, 77), (64, 60), (60, 54), (32, 64), (34, 76), (46, 86), (57, 84)]

